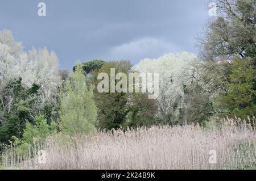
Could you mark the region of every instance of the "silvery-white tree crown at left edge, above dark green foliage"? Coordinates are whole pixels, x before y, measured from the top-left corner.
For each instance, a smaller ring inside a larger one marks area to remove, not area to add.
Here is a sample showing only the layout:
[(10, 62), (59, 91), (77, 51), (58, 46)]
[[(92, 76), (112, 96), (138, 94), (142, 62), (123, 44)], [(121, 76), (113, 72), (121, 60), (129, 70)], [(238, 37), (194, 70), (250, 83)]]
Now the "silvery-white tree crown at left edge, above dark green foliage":
[(21, 77), (22, 84), (27, 87), (36, 83), (41, 86), (44, 98), (48, 99), (57, 93), (60, 82), (58, 62), (56, 54), (49, 53), (47, 48), (32, 48), (26, 53), (10, 31), (0, 32), (0, 78)]

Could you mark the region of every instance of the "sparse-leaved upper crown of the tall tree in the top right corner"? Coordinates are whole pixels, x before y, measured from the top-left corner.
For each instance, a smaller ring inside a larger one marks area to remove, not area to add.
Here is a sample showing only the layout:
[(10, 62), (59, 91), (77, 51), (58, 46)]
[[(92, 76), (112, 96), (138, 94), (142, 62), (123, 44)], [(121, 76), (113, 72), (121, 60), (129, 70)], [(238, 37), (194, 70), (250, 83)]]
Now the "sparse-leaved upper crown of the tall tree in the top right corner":
[(236, 54), (252, 57), (256, 63), (255, 0), (216, 0), (217, 18), (210, 20), (199, 38), (201, 55), (205, 61), (233, 58)]

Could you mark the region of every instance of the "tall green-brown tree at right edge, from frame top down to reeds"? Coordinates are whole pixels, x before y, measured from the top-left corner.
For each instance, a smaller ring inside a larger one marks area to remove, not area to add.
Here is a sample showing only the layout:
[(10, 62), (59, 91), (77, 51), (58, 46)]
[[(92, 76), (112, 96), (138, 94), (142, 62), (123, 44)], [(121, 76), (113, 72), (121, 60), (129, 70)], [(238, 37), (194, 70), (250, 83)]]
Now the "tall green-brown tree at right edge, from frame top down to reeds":
[[(245, 110), (250, 110), (247, 111), (248, 115), (253, 115), (251, 105), (247, 104), (245, 108), (242, 103), (243, 106), (241, 104), (238, 106), (237, 99), (241, 99), (241, 96), (246, 99), (247, 96), (242, 90), (239, 93), (234, 91), (234, 87), (239, 90), (245, 85), (234, 82), (231, 77), (238, 76), (234, 73), (235, 65), (238, 70), (244, 71), (240, 73), (245, 76), (243, 73), (248, 73), (249, 70), (244, 66), (251, 64), (250, 62), (253, 62), (254, 66), (256, 64), (256, 1), (216, 0), (214, 2), (217, 5), (218, 16), (209, 20), (204, 36), (199, 38), (201, 60), (205, 63), (201, 66), (199, 78), (193, 77), (193, 79), (203, 88), (203, 92), (209, 93), (210, 105), (215, 114), (245, 117)], [(238, 59), (245, 65), (238, 64)], [(233, 63), (234, 61), (236, 63)], [(247, 68), (253, 70), (255, 69), (253, 65)], [(251, 78), (250, 81), (247, 84), (255, 85), (255, 79)], [(252, 89), (255, 90), (255, 86)], [(232, 95), (237, 96), (236, 101)], [(242, 111), (243, 109), (245, 112)]]

